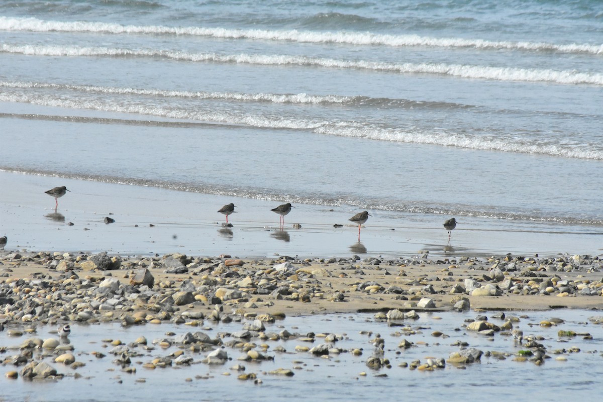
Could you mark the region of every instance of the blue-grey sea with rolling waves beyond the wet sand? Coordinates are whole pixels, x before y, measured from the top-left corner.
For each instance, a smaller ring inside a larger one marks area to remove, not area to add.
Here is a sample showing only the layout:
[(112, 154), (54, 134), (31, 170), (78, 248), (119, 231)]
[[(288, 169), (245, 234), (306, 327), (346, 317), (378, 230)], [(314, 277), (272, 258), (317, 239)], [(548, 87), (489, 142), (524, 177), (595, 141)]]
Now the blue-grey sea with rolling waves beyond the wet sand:
[(597, 0), (0, 3), (8, 172), (455, 216), (597, 254), (601, 105)]

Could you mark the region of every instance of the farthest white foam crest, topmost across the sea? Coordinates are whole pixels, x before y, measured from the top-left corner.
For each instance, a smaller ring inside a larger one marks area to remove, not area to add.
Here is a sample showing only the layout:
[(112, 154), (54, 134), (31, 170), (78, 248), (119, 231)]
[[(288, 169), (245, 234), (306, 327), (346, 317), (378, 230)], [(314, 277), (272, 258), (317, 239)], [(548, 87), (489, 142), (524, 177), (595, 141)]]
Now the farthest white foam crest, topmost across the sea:
[(316, 32), (297, 30), (240, 30), (203, 27), (165, 27), (162, 25), (121, 25), (105, 22), (62, 22), (37, 18), (0, 17), (0, 30), (60, 31), (109, 34), (171, 34), (207, 36), (224, 39), (277, 40), (304, 43), (343, 43), (348, 45), (434, 46), (441, 48), (510, 49), (555, 51), (563, 53), (603, 54), (603, 45), (586, 43), (509, 42), (482, 39), (437, 38), (418, 35), (375, 34), (370, 32)]

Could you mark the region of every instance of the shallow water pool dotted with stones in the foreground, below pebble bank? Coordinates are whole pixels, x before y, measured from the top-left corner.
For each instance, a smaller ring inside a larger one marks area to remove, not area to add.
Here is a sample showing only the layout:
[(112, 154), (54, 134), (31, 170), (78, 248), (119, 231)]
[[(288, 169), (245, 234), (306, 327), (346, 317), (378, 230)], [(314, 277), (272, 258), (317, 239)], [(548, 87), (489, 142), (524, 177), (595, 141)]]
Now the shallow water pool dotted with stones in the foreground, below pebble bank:
[[(242, 330), (245, 322), (230, 323), (205, 321), (198, 327), (175, 324), (147, 324), (144, 326), (122, 327), (119, 324), (72, 325), (69, 342), (74, 347), (78, 362), (85, 366), (72, 369), (55, 363), (54, 355), (44, 360), (54, 366), (59, 373), (65, 374), (60, 380), (30, 382), (21, 376), (9, 380), (0, 378), (0, 401), (179, 401), (179, 400), (301, 400), (311, 397), (313, 400), (367, 400), (378, 393), (380, 398), (394, 400), (401, 395), (415, 395), (421, 400), (466, 401), (468, 395), (479, 392), (482, 400), (505, 400), (518, 395), (530, 395), (531, 400), (556, 400), (562, 395), (576, 397), (595, 397), (598, 395), (598, 378), (603, 375), (603, 327), (602, 313), (596, 310), (549, 310), (545, 312), (507, 312), (507, 318), (519, 319), (514, 328), (523, 331), (524, 338), (538, 337), (537, 342), (548, 351), (550, 359), (542, 365), (531, 361), (514, 360), (520, 350), (513, 336), (504, 331), (492, 337), (484, 336), (466, 329), (467, 321), (478, 315), (485, 315), (488, 321), (501, 325), (503, 319), (496, 318), (499, 312), (438, 312), (419, 313), (420, 318), (396, 322), (377, 321), (374, 314), (355, 315), (314, 315), (291, 316), (265, 324), (266, 333), (280, 333), (287, 330), (296, 333), (299, 338), (280, 339), (279, 341), (251, 338), (248, 342), (257, 344), (256, 350), (274, 360), (247, 362), (238, 360), (245, 352), (232, 347), (224, 347), (229, 358), (223, 365), (207, 365), (201, 362), (207, 351), (192, 352), (189, 346), (183, 348), (185, 355), (193, 358), (191, 365), (175, 365), (166, 368), (147, 369), (144, 363), (150, 363), (156, 357), (165, 357), (180, 350), (176, 345), (162, 348), (151, 342), (157, 339), (173, 339), (187, 332), (201, 331), (210, 338), (221, 337), (226, 343), (232, 341), (230, 333)], [(590, 318), (598, 318), (592, 320)], [(552, 327), (543, 327), (540, 322), (551, 318), (563, 319), (563, 323)], [(21, 345), (30, 336), (51, 338), (56, 336), (55, 327), (38, 325), (33, 335), (20, 337), (7, 335), (8, 325), (0, 332), (0, 347), (7, 347), (2, 356), (19, 353), (12, 349)], [(439, 331), (440, 336), (434, 336)], [(559, 336), (559, 331), (574, 331), (578, 336)], [(340, 348), (339, 354), (328, 357), (313, 356), (307, 351), (296, 351), (298, 346), (314, 347), (324, 342), (324, 338), (315, 337), (314, 342), (302, 341), (308, 333), (335, 333), (343, 339), (333, 344)], [(173, 334), (172, 334), (173, 333)], [(384, 356), (390, 361), (391, 368), (372, 370), (366, 365), (375, 348), (370, 340), (380, 334), (385, 339)], [(584, 334), (590, 334), (592, 339)], [(148, 350), (142, 346), (131, 347), (137, 356), (131, 357), (131, 366), (136, 368), (133, 374), (121, 370), (114, 363), (118, 356), (109, 353), (113, 346), (107, 341), (119, 339), (123, 344), (134, 342), (139, 336), (148, 339)], [(408, 349), (399, 348), (406, 339), (412, 342)], [(420, 360), (426, 362), (430, 357), (448, 359), (450, 353), (459, 351), (458, 342), (466, 342), (469, 348), (477, 348), (485, 354), (481, 362), (464, 366), (446, 364), (443, 369), (422, 371), (403, 366)], [(267, 344), (267, 350), (260, 348)], [(275, 351), (282, 347), (283, 351)], [(361, 349), (361, 356), (353, 356), (350, 350)], [(570, 349), (572, 351), (570, 351)], [(106, 355), (101, 359), (93, 352)], [(490, 352), (490, 353), (488, 353)], [(490, 355), (490, 356), (488, 356)], [(497, 357), (494, 357), (497, 356)], [(40, 352), (34, 352), (39, 359)], [(233, 366), (241, 364), (244, 371), (236, 371)], [(22, 366), (17, 368), (19, 371)], [(270, 374), (277, 368), (291, 369), (295, 375), (285, 377)], [(12, 365), (3, 366), (3, 372), (15, 369)], [(75, 373), (81, 375), (76, 378)], [(239, 380), (242, 373), (255, 373), (260, 382)], [(365, 372), (366, 375), (361, 375)], [(230, 375), (225, 375), (230, 373)], [(384, 375), (385, 374), (385, 375)], [(402, 392), (402, 394), (401, 394)]]

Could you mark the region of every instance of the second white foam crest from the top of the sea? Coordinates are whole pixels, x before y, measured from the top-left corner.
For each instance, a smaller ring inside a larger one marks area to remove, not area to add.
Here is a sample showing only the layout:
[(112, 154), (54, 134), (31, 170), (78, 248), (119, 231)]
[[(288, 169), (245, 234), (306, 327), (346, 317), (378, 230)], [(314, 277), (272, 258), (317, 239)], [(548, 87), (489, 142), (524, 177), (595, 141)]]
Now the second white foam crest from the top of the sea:
[(558, 84), (590, 84), (603, 86), (603, 74), (555, 71), (551, 69), (523, 69), (511, 67), (470, 66), (444, 63), (388, 63), (367, 60), (336, 60), (291, 55), (262, 54), (216, 54), (180, 51), (160, 51), (155, 49), (122, 49), (80, 46), (33, 46), (0, 45), (0, 52), (39, 56), (101, 56), (101, 57), (163, 57), (178, 61), (198, 61), (216, 63), (241, 63), (291, 66), (316, 66), (338, 69), (364, 69), (370, 71), (394, 72), (399, 74), (434, 74), (451, 77), (499, 81), (550, 82)]

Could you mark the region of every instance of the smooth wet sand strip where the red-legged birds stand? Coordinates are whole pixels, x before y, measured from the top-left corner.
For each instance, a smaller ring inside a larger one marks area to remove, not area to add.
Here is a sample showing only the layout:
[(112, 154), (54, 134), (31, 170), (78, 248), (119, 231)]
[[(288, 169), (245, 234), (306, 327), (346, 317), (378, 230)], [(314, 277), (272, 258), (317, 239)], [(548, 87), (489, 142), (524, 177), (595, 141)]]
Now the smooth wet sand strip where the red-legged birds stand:
[[(279, 228), (270, 209), (287, 200), (233, 199), (155, 187), (64, 179), (0, 171), (0, 236), (7, 250), (62, 250), (153, 256), (174, 251), (192, 255), (230, 254), (269, 258), (276, 254), (307, 257), (459, 256), (559, 253), (601, 255), (599, 233), (551, 224), (466, 217), (449, 241), (447, 216), (370, 211), (362, 228), (348, 219), (354, 206), (297, 204)], [(71, 192), (54, 199), (44, 193), (57, 186)], [(218, 209), (234, 203), (224, 227)], [(106, 224), (105, 217), (115, 219)], [(341, 225), (341, 227), (334, 227)]]

